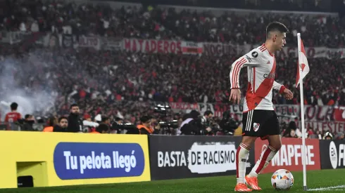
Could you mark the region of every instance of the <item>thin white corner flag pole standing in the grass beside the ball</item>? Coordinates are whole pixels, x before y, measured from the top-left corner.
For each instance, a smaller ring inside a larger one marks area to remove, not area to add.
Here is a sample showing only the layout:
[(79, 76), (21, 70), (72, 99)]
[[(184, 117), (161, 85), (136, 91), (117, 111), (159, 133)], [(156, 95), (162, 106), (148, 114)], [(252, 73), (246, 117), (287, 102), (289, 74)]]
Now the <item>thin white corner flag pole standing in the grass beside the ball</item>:
[[(297, 34), (299, 43), (299, 64), (301, 59), (301, 33)], [(298, 65), (299, 66), (299, 65)], [(306, 129), (304, 125), (304, 98), (303, 98), (303, 76), (302, 69), (299, 66), (299, 95), (301, 97), (301, 129), (302, 129), (302, 164), (303, 164), (303, 190), (307, 190), (307, 169), (306, 169)]]

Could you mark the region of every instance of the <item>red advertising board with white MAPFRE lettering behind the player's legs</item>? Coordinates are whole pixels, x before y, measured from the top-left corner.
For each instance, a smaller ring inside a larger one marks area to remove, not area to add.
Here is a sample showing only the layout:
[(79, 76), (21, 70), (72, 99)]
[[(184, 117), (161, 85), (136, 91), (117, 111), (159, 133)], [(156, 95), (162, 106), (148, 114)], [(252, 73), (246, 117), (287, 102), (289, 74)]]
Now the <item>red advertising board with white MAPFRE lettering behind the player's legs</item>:
[[(255, 159), (258, 160), (261, 152), (268, 146), (268, 140), (256, 140)], [(277, 152), (270, 164), (262, 173), (273, 173), (284, 168), (289, 171), (302, 171), (302, 140), (297, 138), (282, 138), (282, 148)], [(306, 166), (307, 170), (320, 170), (319, 140), (306, 139)]]

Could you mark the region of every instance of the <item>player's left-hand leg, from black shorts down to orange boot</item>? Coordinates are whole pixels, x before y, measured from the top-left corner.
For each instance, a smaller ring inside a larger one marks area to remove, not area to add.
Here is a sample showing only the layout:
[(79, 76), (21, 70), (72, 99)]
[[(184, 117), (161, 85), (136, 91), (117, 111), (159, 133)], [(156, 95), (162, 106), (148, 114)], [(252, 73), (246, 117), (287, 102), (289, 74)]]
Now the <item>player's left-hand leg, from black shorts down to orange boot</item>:
[(235, 187), (236, 192), (251, 192), (251, 189), (245, 185), (245, 175), (246, 175), (246, 161), (249, 157), (249, 150), (255, 142), (257, 136), (253, 133), (253, 126), (251, 121), (253, 120), (253, 110), (243, 114), (242, 118), (242, 142), (237, 148), (236, 152), (236, 178), (237, 185)]

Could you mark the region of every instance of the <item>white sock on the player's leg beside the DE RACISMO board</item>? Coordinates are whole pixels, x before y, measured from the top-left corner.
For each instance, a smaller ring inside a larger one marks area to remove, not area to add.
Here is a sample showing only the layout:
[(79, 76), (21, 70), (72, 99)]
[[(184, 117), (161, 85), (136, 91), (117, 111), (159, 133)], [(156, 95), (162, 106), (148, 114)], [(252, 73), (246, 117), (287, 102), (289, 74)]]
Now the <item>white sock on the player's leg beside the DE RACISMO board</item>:
[(237, 184), (244, 183), (244, 175), (246, 175), (246, 160), (249, 156), (251, 148), (241, 143), (236, 152), (236, 178)]

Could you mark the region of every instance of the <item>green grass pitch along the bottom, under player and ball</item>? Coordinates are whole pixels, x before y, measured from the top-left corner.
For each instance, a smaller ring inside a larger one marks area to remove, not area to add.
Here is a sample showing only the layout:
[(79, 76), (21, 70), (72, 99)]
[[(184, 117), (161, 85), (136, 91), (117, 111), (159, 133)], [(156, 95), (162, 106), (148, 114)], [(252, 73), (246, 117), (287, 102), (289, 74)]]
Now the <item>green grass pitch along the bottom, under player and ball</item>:
[[(345, 192), (345, 169), (308, 171), (307, 185), (308, 192)], [(294, 186), (289, 192), (303, 191), (303, 175), (301, 172), (292, 172), (294, 175)], [(259, 175), (259, 185), (263, 188), (261, 192), (277, 192), (270, 183), (272, 174)], [(13, 193), (104, 193), (104, 192), (234, 192), (236, 183), (235, 176), (222, 176), (212, 178), (189, 178), (180, 180), (158, 180), (151, 182), (134, 182), (123, 184), (105, 185), (79, 185), (65, 187), (37, 187), (20, 189), (0, 189), (0, 192)], [(255, 192), (255, 191), (253, 191)]]

